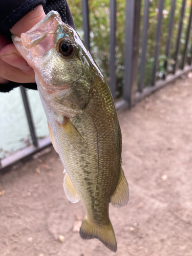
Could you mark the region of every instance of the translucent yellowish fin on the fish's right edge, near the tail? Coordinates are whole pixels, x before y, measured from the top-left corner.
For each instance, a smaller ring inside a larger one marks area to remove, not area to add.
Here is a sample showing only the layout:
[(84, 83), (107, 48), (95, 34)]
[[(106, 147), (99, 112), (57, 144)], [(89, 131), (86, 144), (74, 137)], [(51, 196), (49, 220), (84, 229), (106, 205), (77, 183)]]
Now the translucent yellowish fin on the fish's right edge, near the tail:
[(114, 207), (122, 207), (129, 201), (129, 186), (124, 176), (122, 167), (120, 168), (119, 180), (113, 195), (111, 196), (111, 203)]

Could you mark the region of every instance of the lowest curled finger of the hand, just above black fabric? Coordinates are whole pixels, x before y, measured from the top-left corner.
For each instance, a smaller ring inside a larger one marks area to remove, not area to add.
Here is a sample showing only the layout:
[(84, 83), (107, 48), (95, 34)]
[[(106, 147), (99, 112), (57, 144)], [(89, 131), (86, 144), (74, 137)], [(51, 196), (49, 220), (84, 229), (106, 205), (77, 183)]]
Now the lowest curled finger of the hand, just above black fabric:
[(22, 70), (15, 68), (0, 59), (0, 77), (18, 83), (35, 82), (34, 75), (28, 75)]

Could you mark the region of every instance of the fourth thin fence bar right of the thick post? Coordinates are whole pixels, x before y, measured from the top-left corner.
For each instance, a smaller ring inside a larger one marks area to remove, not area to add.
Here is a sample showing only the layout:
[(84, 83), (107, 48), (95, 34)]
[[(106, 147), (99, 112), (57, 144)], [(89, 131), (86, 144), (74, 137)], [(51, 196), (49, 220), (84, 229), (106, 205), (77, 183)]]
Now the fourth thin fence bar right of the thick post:
[(179, 22), (179, 31), (178, 31), (178, 36), (177, 36), (176, 51), (175, 51), (175, 57), (174, 57), (175, 63), (173, 65), (173, 74), (175, 74), (176, 69), (177, 69), (177, 59), (178, 59), (178, 54), (179, 54), (179, 50), (180, 50), (180, 39), (181, 39), (181, 32), (182, 32), (182, 28), (183, 28), (185, 4), (186, 4), (186, 0), (183, 0), (182, 7), (181, 7), (180, 22)]

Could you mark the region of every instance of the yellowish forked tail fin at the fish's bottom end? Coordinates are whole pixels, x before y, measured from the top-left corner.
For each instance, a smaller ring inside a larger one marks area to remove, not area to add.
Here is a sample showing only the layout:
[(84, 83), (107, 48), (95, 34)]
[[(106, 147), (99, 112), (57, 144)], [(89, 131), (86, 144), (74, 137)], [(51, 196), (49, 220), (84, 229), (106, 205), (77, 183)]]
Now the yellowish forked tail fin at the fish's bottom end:
[(110, 250), (117, 251), (117, 242), (111, 222), (108, 225), (97, 226), (86, 217), (79, 233), (82, 239), (97, 238)]

